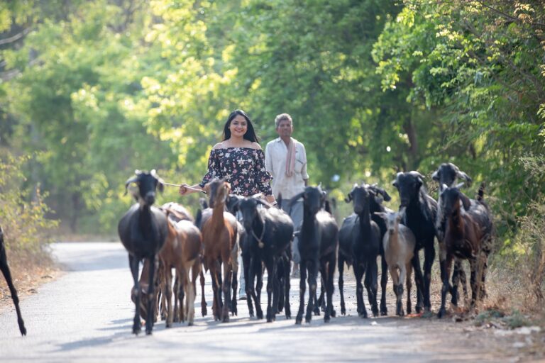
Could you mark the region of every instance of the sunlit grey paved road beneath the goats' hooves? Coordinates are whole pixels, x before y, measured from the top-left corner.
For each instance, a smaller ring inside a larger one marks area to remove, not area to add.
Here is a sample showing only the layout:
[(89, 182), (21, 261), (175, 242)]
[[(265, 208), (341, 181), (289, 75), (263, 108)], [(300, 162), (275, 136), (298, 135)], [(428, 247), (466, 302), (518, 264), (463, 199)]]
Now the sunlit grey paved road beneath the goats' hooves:
[[(246, 302), (238, 317), (216, 323), (200, 317), (195, 325), (157, 323), (153, 335), (131, 334), (132, 285), (121, 243), (59, 243), (53, 251), (66, 271), (22, 301), (28, 335), (21, 337), (13, 308), (0, 311), (3, 362), (309, 362), (375, 361), (497, 362), (453, 323), (436, 319), (360, 319), (349, 303), (347, 316), (310, 325), (277, 316), (274, 323), (248, 318)], [(351, 272), (350, 272), (351, 273)], [(209, 277), (207, 277), (207, 289)], [(292, 280), (292, 311), (297, 311)], [(346, 284), (353, 301), (354, 285)], [(211, 296), (210, 293), (207, 294)], [(365, 298), (366, 300), (366, 298)], [(197, 295), (199, 301), (199, 295)], [(211, 306), (210, 298), (209, 306)], [(338, 294), (335, 294), (338, 308)], [(393, 306), (390, 306), (393, 311)], [(451, 332), (448, 330), (452, 329)], [(496, 357), (494, 357), (496, 356)]]

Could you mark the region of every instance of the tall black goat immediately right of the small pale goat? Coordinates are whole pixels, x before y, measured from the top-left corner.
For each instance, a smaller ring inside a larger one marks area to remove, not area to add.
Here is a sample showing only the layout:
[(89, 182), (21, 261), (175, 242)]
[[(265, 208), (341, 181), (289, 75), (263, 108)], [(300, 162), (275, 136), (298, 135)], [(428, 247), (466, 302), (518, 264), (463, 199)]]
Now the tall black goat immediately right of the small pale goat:
[[(399, 172), (392, 183), (400, 193), (401, 205), (405, 207), (402, 224), (406, 225), (416, 238), (412, 267), (417, 283), (417, 313), (422, 311), (422, 296), (424, 309), (431, 311), (429, 287), (431, 281), (431, 266), (435, 259), (434, 238), (436, 237), (435, 220), (437, 202), (424, 190), (424, 176), (419, 172)], [(424, 248), (424, 277), (418, 251)], [(442, 268), (441, 268), (442, 269)]]

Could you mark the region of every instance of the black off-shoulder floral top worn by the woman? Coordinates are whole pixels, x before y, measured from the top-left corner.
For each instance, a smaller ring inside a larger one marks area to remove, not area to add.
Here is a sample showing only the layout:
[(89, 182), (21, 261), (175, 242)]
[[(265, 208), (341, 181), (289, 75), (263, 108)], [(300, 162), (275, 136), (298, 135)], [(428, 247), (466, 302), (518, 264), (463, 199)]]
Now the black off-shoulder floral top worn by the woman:
[(212, 149), (208, 159), (208, 172), (199, 184), (204, 187), (214, 178), (231, 183), (233, 194), (251, 196), (263, 193), (272, 195), (272, 177), (265, 169), (265, 153), (251, 147), (226, 147)]

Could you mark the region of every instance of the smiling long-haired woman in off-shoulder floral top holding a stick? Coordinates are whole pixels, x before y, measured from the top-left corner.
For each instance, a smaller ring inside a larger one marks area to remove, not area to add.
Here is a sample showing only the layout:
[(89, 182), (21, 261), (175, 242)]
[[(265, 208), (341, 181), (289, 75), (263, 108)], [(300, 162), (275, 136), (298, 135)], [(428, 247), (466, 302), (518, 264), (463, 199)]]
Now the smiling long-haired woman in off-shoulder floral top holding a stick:
[(208, 172), (201, 183), (180, 186), (180, 195), (194, 193), (214, 178), (225, 178), (233, 194), (251, 196), (263, 193), (265, 199), (276, 204), (270, 180), (265, 170), (265, 154), (248, 115), (242, 110), (231, 112), (224, 126), (224, 140), (214, 145), (208, 160)]

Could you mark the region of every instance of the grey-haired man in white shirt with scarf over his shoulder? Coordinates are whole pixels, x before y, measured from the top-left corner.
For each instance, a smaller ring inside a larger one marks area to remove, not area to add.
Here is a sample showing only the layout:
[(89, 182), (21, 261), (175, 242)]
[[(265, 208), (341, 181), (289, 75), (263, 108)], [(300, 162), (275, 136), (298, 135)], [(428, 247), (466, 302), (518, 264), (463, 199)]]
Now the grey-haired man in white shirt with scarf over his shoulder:
[[(301, 199), (291, 207), (289, 201), (292, 196), (304, 191), (308, 184), (307, 153), (304, 145), (292, 138), (292, 116), (281, 113), (276, 116), (275, 125), (280, 137), (265, 147), (265, 169), (272, 174), (272, 194), (276, 197), (282, 194), (282, 209), (292, 218), (295, 230), (299, 230), (303, 223), (303, 201)], [(292, 245), (292, 277), (299, 276), (301, 257), (298, 246), (299, 240), (296, 237)]]

